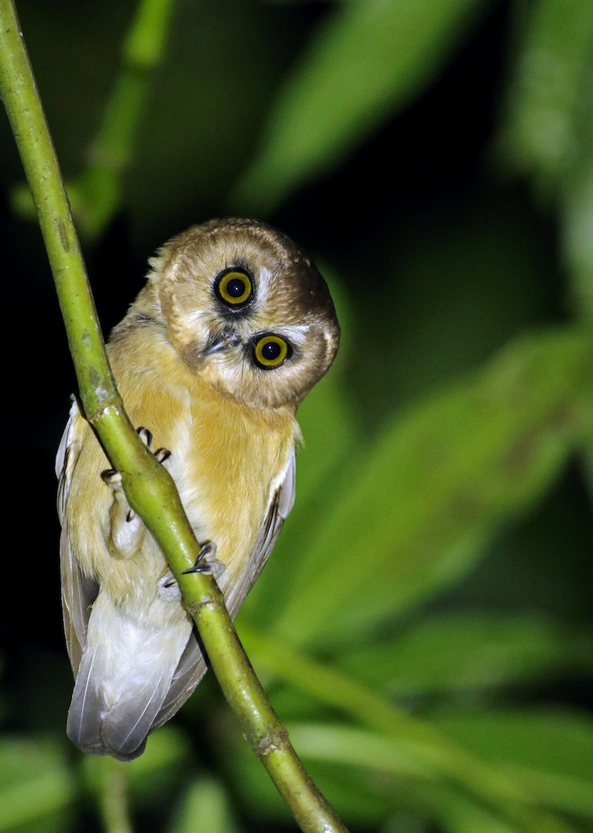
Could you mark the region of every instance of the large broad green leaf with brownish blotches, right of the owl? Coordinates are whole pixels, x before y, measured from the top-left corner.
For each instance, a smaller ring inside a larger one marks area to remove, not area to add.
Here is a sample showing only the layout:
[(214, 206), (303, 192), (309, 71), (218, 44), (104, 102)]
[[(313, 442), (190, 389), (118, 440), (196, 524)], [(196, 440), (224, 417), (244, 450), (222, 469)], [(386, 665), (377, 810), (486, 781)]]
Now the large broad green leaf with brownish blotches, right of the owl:
[(362, 642), (456, 581), (582, 443), (592, 364), (593, 340), (579, 332), (522, 338), (387, 425), (336, 476), (324, 522), (292, 537), (277, 632)]

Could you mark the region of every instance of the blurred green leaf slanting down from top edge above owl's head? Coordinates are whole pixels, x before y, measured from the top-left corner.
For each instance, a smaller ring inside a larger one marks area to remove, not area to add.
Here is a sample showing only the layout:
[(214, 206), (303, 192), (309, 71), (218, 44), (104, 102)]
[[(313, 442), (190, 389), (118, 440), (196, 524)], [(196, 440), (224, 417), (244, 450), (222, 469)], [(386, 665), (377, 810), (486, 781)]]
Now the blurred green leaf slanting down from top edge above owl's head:
[(441, 68), (485, 0), (358, 0), (321, 23), (232, 203), (270, 212), (346, 157)]

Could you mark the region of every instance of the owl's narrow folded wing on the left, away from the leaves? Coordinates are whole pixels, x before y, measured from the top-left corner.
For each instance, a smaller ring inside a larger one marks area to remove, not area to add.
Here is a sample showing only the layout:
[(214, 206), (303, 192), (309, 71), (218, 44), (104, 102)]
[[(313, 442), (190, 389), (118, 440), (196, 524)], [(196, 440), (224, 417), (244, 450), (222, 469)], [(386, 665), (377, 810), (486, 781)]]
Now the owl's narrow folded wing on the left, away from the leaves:
[(96, 581), (87, 579), (72, 553), (66, 503), (72, 472), (77, 464), (82, 448), (82, 437), (87, 430), (87, 422), (81, 416), (76, 402), (72, 402), (70, 418), (62, 434), (57, 449), (56, 475), (57, 516), (62, 524), (60, 536), (60, 571), (62, 573), (62, 614), (64, 633), (72, 671), (77, 675), (82, 656), (82, 649), (87, 641), (88, 617), (91, 615), (92, 602), (97, 598), (99, 586)]

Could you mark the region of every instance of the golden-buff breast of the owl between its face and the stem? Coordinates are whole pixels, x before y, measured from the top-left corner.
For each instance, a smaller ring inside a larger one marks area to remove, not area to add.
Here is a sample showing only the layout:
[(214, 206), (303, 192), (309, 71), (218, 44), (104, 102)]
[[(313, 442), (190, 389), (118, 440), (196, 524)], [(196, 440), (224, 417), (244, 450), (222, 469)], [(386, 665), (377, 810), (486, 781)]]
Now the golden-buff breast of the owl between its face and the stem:
[(129, 343), (125, 362), (111, 357), (118, 387), (132, 422), (150, 426), (153, 447), (172, 452), (167, 469), (198, 541), (216, 542), (225, 592), (247, 565), (284, 478), (298, 433), (294, 413), (221, 397), (175, 361), (166, 343), (152, 351), (149, 364), (144, 357), (142, 374), (129, 373), (133, 349)]

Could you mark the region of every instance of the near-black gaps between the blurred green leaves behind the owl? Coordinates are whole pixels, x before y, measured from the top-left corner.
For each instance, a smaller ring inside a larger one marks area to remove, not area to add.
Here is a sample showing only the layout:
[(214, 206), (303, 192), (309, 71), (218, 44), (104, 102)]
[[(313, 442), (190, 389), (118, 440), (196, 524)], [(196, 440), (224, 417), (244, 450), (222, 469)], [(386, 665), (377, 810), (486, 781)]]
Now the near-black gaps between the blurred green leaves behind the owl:
[[(252, 203), (232, 197), (233, 187), (257, 153), (274, 102), (311, 38), (340, 6), (177, 4), (122, 176), (121, 200), (102, 232), (82, 240), (103, 332), (120, 320), (142, 287), (147, 257), (168, 237), (209, 217), (251, 216), (263, 204), (259, 194)], [(18, 3), (67, 181), (85, 166), (133, 11), (132, 2), (121, 0)], [(535, 162), (518, 173), (512, 152), (500, 148), (512, 112), (516, 56), (530, 18), (521, 28), (517, 7), (509, 2), (481, 3), (472, 17), (409, 100), (382, 117), (364, 141), (353, 141), (341, 159), (259, 214), (311, 252), (322, 271), (327, 268), (332, 291), (346, 299), (350, 320), (341, 385), (358, 430), (370, 440), (427, 393), (485, 367), (522, 333), (571, 326), (582, 313), (563, 248), (561, 188), (541, 187)], [(76, 767), (77, 754), (62, 739), (72, 680), (59, 605), (53, 474), (76, 382), (40, 232), (12, 206), (22, 168), (6, 120), (0, 159), (10, 437), (2, 724), (7, 737), (53, 738), (65, 766)], [(546, 616), (590, 633), (590, 494), (581, 458), (573, 454), (537, 499), (498, 522), (481, 557), (459, 581), (419, 601), (416, 616), (488, 609)], [(590, 712), (586, 662), (576, 666), (507, 686), (502, 701)], [(229, 775), (216, 731), (200, 727), (201, 707), (218, 716), (222, 737), (229, 720), (219, 715), (213, 681), (204, 687), (196, 696), (202, 705), (176, 718), (186, 740), (192, 733), (187, 742), (196, 752), (194, 766), (217, 773), (246, 830), (277, 829), (276, 811), (263, 807), (260, 816), (254, 813), (245, 798), (249, 787)], [(500, 692), (472, 696), (489, 702)], [(282, 702), (282, 692), (279, 697)], [(440, 697), (442, 711), (447, 700)], [(315, 711), (307, 714), (311, 718)], [(344, 778), (356, 782), (347, 773)], [(170, 773), (162, 784), (173, 796), (181, 789)], [(59, 823), (97, 829), (92, 799), (81, 795), (74, 804), (66, 802)], [(136, 812), (143, 826), (164, 829), (167, 812), (142, 811), (142, 801), (137, 799)], [(360, 813), (351, 811), (346, 821), (361, 831), (396, 830), (389, 818), (399, 819), (401, 831), (456, 830), (451, 818), (439, 821), (431, 811), (424, 817), (417, 806), (397, 816), (381, 801), (365, 810), (361, 800)], [(162, 820), (157, 827), (155, 814)], [(32, 829), (45, 823), (40, 817)], [(48, 829), (56, 823), (47, 821)], [(590, 829), (579, 826), (585, 821), (575, 823), (577, 830)]]

